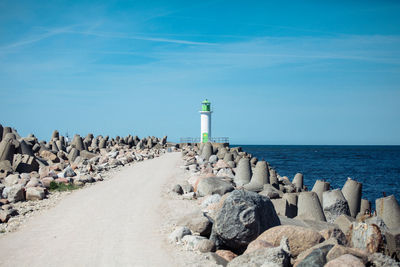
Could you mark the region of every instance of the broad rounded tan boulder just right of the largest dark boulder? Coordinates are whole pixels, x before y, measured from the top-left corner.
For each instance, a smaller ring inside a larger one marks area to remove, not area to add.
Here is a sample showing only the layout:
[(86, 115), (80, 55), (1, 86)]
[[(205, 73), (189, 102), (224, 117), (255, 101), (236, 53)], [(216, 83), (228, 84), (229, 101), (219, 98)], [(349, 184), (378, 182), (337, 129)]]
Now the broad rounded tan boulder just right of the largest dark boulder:
[(279, 246), (284, 236), (289, 239), (290, 252), (293, 257), (297, 257), (302, 251), (324, 241), (322, 235), (317, 231), (294, 225), (280, 225), (270, 228), (256, 240), (263, 240), (274, 246)]

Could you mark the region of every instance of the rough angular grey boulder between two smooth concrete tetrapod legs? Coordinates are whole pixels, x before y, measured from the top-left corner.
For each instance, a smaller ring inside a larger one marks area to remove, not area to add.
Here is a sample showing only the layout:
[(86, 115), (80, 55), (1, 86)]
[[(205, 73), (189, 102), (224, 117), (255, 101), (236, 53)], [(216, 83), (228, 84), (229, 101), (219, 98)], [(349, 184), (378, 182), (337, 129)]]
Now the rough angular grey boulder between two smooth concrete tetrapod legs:
[(322, 207), (327, 222), (333, 223), (342, 214), (350, 216), (349, 205), (340, 189), (325, 191), (323, 199), (324, 203)]

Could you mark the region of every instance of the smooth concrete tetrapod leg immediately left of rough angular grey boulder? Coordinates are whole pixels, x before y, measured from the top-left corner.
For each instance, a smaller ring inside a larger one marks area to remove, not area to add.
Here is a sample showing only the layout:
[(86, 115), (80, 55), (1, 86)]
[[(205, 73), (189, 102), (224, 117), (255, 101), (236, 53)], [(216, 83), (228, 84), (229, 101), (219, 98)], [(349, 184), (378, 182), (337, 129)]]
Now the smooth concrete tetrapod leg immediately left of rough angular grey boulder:
[(317, 193), (301, 192), (299, 194), (297, 217), (313, 221), (326, 221)]

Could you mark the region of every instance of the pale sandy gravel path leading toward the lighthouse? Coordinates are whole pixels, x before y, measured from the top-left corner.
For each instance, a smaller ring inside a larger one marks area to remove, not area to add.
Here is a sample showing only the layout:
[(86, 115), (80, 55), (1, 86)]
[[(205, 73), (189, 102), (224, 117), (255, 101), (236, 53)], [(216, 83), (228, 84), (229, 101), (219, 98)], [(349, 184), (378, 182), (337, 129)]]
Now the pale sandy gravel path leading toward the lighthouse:
[(159, 231), (180, 153), (124, 168), (0, 239), (1, 266), (174, 266)]

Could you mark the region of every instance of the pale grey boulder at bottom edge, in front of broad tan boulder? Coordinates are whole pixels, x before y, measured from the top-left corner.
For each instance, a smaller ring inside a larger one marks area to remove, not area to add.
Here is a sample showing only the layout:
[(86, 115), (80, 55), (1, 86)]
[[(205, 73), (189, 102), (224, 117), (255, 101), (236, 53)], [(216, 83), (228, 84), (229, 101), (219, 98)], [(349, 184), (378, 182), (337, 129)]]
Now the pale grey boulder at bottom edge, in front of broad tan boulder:
[(279, 247), (260, 248), (234, 258), (228, 267), (263, 266), (287, 267), (290, 265), (290, 251), (288, 239), (282, 238)]

